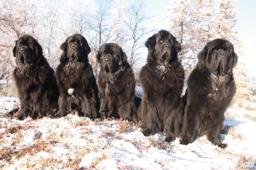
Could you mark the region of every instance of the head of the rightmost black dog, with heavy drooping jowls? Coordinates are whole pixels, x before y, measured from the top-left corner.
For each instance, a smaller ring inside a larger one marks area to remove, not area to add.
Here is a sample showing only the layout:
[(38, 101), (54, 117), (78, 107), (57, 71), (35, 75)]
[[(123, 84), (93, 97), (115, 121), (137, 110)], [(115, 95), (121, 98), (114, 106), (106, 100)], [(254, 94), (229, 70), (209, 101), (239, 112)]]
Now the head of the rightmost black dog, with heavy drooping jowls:
[(226, 39), (214, 39), (207, 42), (204, 49), (198, 54), (198, 66), (207, 68), (214, 74), (224, 75), (236, 66), (237, 56), (234, 46)]

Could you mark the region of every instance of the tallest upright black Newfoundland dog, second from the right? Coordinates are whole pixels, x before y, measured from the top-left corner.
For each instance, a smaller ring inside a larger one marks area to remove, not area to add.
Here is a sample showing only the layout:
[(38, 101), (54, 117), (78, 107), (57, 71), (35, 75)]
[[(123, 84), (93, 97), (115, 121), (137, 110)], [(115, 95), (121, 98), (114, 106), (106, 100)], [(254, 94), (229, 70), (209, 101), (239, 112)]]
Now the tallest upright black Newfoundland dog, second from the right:
[(138, 117), (145, 136), (164, 131), (170, 142), (180, 135), (182, 122), (184, 70), (177, 57), (181, 46), (166, 30), (148, 38), (145, 45), (148, 58), (139, 74), (143, 96)]

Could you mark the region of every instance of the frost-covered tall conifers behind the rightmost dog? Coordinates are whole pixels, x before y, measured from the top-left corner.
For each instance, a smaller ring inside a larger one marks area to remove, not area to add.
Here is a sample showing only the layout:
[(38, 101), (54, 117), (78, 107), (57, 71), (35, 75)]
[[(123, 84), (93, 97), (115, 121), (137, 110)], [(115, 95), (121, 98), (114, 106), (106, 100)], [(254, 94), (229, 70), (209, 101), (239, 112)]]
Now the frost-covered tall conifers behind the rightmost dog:
[[(180, 59), (185, 67), (186, 77), (197, 62), (197, 54), (207, 41), (223, 38), (234, 44), (238, 64), (234, 69), (237, 95), (255, 100), (252, 90), (256, 86), (247, 83), (243, 76), (243, 44), (234, 29), (237, 22), (236, 0), (173, 0), (167, 7), (166, 17), (170, 19), (170, 32), (182, 42)], [(177, 35), (176, 35), (177, 34)], [(250, 87), (248, 89), (248, 87)]]

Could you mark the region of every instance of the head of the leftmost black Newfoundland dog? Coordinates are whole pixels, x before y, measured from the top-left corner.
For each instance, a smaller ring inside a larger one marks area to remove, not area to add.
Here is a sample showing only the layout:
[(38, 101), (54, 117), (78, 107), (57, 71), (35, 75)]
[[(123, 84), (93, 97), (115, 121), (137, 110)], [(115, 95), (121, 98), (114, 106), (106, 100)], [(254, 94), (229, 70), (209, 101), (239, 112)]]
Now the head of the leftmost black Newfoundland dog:
[(30, 35), (23, 35), (15, 41), (12, 50), (17, 65), (33, 65), (43, 56), (42, 46)]

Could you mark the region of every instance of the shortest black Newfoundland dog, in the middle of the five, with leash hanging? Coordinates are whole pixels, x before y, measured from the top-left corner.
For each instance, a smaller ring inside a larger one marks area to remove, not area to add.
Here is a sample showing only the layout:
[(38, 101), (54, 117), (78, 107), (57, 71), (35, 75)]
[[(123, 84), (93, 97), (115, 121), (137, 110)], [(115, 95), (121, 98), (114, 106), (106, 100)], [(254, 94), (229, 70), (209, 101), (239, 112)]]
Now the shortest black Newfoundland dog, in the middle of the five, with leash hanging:
[(135, 120), (135, 78), (126, 54), (117, 44), (106, 43), (100, 47), (97, 60), (100, 63), (100, 116)]

